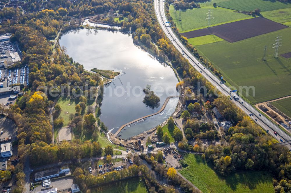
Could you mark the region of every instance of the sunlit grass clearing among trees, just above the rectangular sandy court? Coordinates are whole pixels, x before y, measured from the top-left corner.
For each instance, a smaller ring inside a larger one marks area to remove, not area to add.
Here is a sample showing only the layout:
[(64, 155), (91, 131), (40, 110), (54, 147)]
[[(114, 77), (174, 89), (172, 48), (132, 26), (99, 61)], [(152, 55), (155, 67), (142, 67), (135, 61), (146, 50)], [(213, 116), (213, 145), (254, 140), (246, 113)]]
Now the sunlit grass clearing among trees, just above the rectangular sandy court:
[(73, 113), (73, 114), (76, 113), (76, 110), (75, 110), (76, 103), (75, 103), (74, 100), (71, 100), (68, 97), (60, 97), (58, 99), (57, 103), (61, 106), (61, 114), (60, 114), (60, 117), (63, 117), (64, 118), (64, 125), (63, 125), (63, 127), (68, 126), (68, 123), (69, 123), (69, 114), (70, 113)]

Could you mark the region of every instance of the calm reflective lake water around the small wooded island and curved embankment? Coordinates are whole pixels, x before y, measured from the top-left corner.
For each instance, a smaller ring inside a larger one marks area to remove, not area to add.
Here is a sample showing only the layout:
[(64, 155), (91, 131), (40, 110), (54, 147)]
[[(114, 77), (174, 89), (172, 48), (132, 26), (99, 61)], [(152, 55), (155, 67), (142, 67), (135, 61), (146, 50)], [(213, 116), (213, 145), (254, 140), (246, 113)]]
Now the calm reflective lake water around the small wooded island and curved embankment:
[[(75, 61), (92, 68), (115, 70), (121, 73), (113, 83), (104, 87), (100, 119), (109, 130), (118, 128), (139, 117), (157, 112), (169, 96), (178, 95), (177, 78), (173, 70), (162, 65), (147, 52), (136, 47), (131, 35), (105, 30), (79, 30), (68, 32), (60, 39)], [(158, 108), (143, 103), (142, 88), (149, 84), (160, 97)], [(120, 134), (123, 139), (139, 134), (164, 122), (175, 110), (178, 98), (172, 98), (161, 115), (149, 117), (142, 123), (126, 127)]]

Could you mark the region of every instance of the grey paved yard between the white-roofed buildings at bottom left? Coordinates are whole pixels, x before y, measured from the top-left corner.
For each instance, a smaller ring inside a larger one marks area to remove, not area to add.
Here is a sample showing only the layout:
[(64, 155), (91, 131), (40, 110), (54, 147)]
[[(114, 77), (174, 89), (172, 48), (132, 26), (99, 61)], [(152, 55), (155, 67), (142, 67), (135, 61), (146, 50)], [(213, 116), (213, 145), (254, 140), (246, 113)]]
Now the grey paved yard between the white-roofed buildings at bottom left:
[[(73, 177), (65, 177), (61, 179), (54, 180), (53, 178), (51, 179), (51, 185), (49, 186), (50, 188), (57, 188), (58, 190), (64, 190), (64, 189), (69, 189), (71, 188), (71, 185), (73, 184)], [(31, 192), (40, 192), (42, 190), (47, 190), (50, 188), (45, 188), (42, 185), (35, 187)]]

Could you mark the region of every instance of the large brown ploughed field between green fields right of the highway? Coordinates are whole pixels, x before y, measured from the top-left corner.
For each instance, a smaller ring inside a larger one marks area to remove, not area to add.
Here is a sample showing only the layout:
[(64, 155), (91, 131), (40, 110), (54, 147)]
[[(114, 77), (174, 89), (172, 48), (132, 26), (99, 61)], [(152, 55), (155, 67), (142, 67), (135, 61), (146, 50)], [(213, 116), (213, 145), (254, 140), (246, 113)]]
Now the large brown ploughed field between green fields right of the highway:
[(182, 35), (189, 39), (214, 34), (228, 42), (236, 42), (261, 34), (281, 30), (283, 28), (287, 28), (287, 26), (263, 17), (256, 17), (253, 19), (245, 19), (219, 26), (213, 26), (211, 28), (185, 32), (182, 33)]

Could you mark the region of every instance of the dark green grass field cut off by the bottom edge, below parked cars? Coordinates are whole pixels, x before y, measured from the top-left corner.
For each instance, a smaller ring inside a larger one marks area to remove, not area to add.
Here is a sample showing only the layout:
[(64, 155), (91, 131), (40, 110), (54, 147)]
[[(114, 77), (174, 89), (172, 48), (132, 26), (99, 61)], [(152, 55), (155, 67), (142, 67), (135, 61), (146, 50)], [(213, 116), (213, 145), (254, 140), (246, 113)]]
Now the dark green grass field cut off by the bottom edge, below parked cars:
[(110, 185), (101, 185), (91, 188), (91, 193), (147, 193), (145, 185), (140, 178), (132, 178), (119, 182), (110, 183)]

